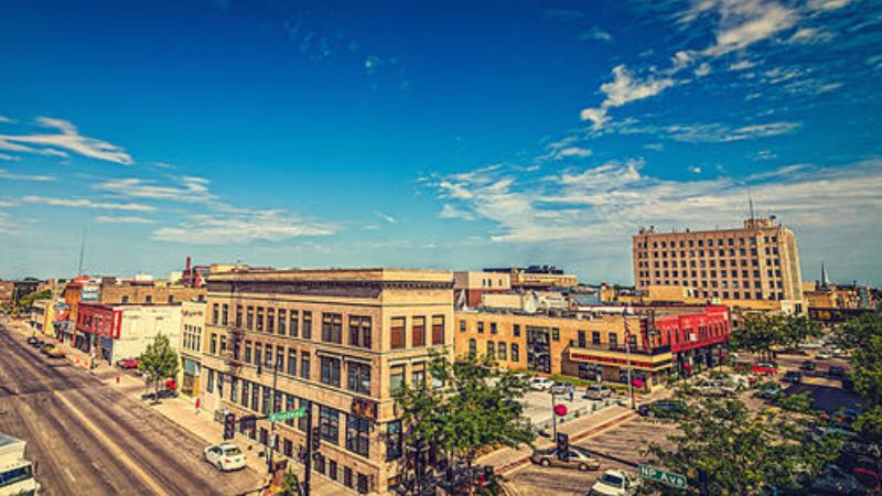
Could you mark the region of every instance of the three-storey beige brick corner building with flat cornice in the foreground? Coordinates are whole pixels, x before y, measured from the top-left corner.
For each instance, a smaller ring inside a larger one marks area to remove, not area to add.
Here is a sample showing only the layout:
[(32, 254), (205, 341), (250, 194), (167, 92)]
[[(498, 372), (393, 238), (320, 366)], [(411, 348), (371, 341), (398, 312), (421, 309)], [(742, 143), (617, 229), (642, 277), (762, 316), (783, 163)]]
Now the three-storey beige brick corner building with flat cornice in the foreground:
[[(237, 418), (311, 406), (322, 435), (315, 472), (341, 492), (388, 492), (404, 455), (392, 390), (439, 386), (427, 362), (453, 353), (452, 273), (245, 271), (207, 284), (203, 405)], [(298, 460), (304, 420), (276, 423), (281, 455)], [(266, 420), (244, 433), (270, 442)]]

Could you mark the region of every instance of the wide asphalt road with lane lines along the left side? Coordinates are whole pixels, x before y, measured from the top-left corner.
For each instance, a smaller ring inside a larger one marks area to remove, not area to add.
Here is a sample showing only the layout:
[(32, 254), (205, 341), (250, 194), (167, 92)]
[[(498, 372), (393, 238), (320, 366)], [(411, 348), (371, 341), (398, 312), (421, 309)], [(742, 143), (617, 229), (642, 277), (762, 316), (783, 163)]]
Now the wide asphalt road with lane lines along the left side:
[(201, 439), (2, 325), (0, 432), (28, 442), (50, 496), (237, 495), (260, 485), (251, 470), (202, 462)]

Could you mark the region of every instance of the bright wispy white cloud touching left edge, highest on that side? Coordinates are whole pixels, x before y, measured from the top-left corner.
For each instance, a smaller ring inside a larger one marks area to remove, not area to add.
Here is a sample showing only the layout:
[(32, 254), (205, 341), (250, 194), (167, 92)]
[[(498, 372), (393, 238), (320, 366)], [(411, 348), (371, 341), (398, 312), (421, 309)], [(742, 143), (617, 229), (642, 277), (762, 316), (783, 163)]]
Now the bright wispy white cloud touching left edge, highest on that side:
[(63, 119), (37, 117), (36, 122), (45, 128), (61, 132), (51, 134), (0, 134), (0, 149), (67, 157), (67, 152), (78, 153), (97, 160), (130, 165), (135, 163), (126, 150), (116, 144), (79, 134), (76, 127)]

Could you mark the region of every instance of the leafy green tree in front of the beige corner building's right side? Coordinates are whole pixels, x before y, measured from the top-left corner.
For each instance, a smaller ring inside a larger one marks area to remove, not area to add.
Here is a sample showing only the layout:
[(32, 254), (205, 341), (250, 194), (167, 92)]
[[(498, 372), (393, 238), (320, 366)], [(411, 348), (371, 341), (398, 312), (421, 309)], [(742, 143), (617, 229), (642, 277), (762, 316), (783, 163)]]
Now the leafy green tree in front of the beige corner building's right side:
[(432, 382), (443, 387), (405, 385), (396, 395), (409, 445), (434, 446), (471, 472), (487, 446), (533, 442), (535, 433), (517, 401), (527, 390), (525, 378), (471, 354), (453, 362), (435, 356), (429, 368)]

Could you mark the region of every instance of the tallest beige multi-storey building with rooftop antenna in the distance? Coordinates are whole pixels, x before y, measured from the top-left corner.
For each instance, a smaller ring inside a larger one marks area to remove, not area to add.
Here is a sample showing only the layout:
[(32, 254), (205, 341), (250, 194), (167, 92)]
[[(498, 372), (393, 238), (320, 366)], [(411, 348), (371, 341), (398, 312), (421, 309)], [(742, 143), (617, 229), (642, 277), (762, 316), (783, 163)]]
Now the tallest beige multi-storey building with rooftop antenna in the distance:
[(742, 228), (702, 231), (641, 229), (633, 238), (635, 285), (691, 288), (706, 300), (799, 302), (796, 238), (773, 220), (752, 218)]

